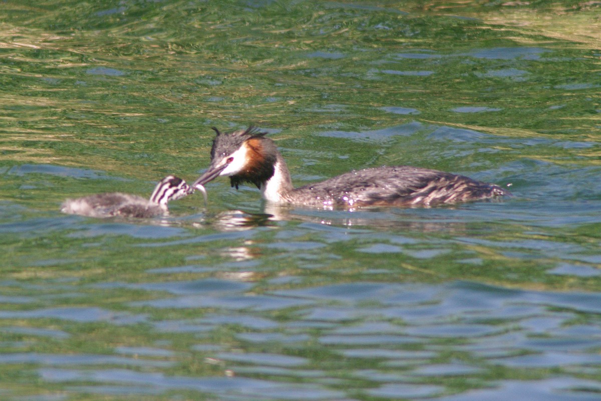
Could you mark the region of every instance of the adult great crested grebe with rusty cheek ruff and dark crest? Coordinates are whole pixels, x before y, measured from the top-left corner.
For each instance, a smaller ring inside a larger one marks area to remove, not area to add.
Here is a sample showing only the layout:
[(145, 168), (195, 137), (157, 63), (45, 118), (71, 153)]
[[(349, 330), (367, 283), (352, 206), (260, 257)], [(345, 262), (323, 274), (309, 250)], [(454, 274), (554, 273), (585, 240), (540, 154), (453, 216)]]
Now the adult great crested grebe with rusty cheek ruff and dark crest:
[[(200, 189), (218, 176), (231, 186), (256, 185), (269, 202), (353, 209), (365, 206), (430, 206), (510, 195), (500, 186), (428, 168), (395, 166), (350, 171), (294, 188), (282, 155), (266, 132), (249, 127), (221, 133), (211, 148), (209, 168), (192, 185)], [(204, 188), (203, 188), (204, 189)]]

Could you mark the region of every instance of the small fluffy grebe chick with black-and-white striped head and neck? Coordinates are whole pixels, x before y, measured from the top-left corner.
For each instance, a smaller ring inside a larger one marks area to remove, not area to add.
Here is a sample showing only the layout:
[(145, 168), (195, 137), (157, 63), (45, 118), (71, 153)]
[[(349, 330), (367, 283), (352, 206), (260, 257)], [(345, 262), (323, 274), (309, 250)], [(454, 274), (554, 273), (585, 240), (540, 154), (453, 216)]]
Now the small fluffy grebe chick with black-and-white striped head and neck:
[(194, 189), (184, 180), (175, 176), (166, 176), (156, 185), (150, 200), (138, 195), (108, 192), (67, 199), (61, 206), (61, 212), (89, 217), (150, 218), (168, 214), (168, 201), (183, 198), (192, 192)]

